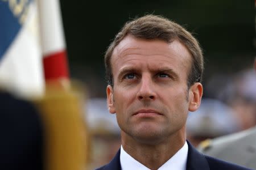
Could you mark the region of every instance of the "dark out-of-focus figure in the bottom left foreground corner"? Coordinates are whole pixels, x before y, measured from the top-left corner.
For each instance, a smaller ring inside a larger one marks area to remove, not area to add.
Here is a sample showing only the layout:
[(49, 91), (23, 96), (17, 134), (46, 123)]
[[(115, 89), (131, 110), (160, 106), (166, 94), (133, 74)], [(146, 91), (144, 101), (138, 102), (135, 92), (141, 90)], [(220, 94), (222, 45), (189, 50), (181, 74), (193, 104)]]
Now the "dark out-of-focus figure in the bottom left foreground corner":
[(0, 169), (43, 170), (43, 126), (30, 102), (0, 91)]

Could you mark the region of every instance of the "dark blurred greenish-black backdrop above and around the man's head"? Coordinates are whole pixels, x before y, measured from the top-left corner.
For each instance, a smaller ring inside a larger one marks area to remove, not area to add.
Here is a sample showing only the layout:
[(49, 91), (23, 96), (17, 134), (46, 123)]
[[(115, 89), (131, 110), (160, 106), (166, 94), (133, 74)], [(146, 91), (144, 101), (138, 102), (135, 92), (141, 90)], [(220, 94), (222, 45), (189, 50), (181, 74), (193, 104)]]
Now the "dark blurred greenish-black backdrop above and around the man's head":
[(214, 73), (236, 73), (255, 57), (255, 6), (244, 0), (61, 1), (71, 76), (85, 82), (91, 97), (105, 96), (104, 52), (131, 18), (163, 15), (199, 40), (204, 81)]

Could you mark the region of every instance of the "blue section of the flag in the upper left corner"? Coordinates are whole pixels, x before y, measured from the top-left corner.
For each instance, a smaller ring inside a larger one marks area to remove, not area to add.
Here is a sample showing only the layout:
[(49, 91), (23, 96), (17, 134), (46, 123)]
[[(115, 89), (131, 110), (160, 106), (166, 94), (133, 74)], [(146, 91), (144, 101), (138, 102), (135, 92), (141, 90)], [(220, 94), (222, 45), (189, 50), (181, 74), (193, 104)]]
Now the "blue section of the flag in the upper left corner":
[[(30, 2), (27, 1), (25, 6), (28, 6)], [(9, 1), (0, 0), (0, 59), (15, 39), (21, 27), (19, 16), (14, 16), (10, 9)]]

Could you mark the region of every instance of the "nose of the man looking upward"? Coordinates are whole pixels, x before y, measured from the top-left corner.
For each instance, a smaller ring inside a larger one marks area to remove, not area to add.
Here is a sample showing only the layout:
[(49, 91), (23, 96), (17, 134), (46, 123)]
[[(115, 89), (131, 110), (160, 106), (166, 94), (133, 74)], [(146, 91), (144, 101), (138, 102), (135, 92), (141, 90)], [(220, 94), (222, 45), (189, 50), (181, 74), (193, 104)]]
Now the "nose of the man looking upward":
[(155, 100), (156, 93), (154, 82), (150, 76), (142, 76), (141, 86), (139, 88), (137, 97), (139, 100)]

